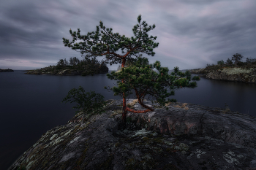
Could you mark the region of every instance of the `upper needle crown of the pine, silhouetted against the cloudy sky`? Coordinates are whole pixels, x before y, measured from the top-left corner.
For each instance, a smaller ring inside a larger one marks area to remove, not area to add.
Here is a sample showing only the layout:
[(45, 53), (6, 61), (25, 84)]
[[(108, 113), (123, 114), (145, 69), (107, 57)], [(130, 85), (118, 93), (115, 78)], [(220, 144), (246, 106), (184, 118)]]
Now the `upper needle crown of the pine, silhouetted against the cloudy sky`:
[[(138, 23), (140, 23), (141, 15), (138, 16)], [(143, 25), (143, 28), (139, 28)], [(132, 55), (135, 55), (138, 58), (137, 53), (143, 52), (148, 55), (154, 56), (153, 48), (158, 47), (159, 43), (154, 43), (154, 40), (157, 39), (157, 36), (150, 36), (146, 34), (151, 29), (155, 28), (148, 26), (146, 21), (144, 20), (139, 26), (139, 24), (135, 25), (132, 29), (135, 34), (135, 38), (132, 36), (131, 38), (121, 36), (119, 33), (113, 34), (112, 28), (106, 28), (103, 26), (102, 21), (99, 22), (99, 26), (96, 26), (96, 31), (88, 32), (87, 35), (80, 35), (80, 29), (78, 28), (78, 32), (69, 30), (69, 33), (73, 37), (72, 42), (69, 42), (69, 39), (63, 39), (63, 43), (65, 47), (72, 47), (72, 50), (80, 50), (80, 53), (83, 55), (84, 53), (89, 53), (90, 55), (86, 55), (86, 58), (102, 56), (106, 55), (106, 62), (110, 63), (110, 66), (113, 63), (121, 63), (122, 59), (121, 55), (116, 55), (116, 51), (119, 49), (124, 52), (124, 48), (127, 48), (127, 61), (134, 61), (134, 58), (131, 58)], [(148, 28), (147, 28), (148, 26)], [(101, 31), (102, 34), (99, 33), (99, 27), (103, 29)], [(143, 31), (142, 31), (143, 29)], [(102, 36), (99, 39), (99, 36)], [(82, 40), (82, 42), (75, 43), (76, 40)], [(92, 39), (92, 40), (91, 40)], [(138, 40), (138, 42), (136, 42)], [(135, 50), (130, 50), (130, 48)], [(129, 52), (129, 53), (128, 53)], [(110, 61), (110, 62), (108, 62)]]

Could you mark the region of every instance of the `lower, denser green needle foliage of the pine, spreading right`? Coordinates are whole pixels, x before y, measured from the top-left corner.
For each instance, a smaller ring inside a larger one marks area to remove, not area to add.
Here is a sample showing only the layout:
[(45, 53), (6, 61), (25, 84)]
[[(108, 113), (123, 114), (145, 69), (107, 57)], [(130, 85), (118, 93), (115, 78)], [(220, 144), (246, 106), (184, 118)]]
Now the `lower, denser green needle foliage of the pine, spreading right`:
[[(134, 89), (139, 100), (143, 101), (148, 94), (152, 98), (152, 103), (157, 101), (161, 106), (164, 106), (168, 102), (176, 102), (176, 99), (169, 98), (165, 101), (165, 98), (174, 95), (174, 89), (195, 88), (197, 86), (196, 82), (189, 82), (191, 80), (189, 71), (182, 73), (178, 71), (178, 67), (175, 67), (174, 72), (169, 75), (169, 69), (161, 67), (159, 61), (156, 61), (153, 65), (146, 63), (148, 63), (148, 58), (138, 58), (135, 66), (128, 66), (126, 69), (121, 68), (121, 72), (113, 71), (111, 75), (107, 74), (109, 79), (118, 80), (118, 87), (109, 89), (113, 90), (114, 96), (119, 95), (126, 98), (129, 94), (132, 94), (131, 90)], [(159, 74), (152, 70), (154, 68), (159, 71)], [(121, 80), (124, 80), (124, 82), (121, 82)], [(170, 88), (170, 93), (167, 93), (165, 88)], [(105, 89), (107, 88), (105, 87)]]

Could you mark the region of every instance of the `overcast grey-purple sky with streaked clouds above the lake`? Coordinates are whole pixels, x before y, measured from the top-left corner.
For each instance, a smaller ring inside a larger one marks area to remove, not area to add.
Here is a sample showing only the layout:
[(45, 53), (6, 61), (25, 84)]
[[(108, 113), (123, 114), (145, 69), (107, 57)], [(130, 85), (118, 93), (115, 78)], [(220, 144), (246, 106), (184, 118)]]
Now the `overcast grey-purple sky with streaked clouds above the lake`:
[[(138, 15), (140, 23), (156, 25), (148, 31), (148, 36), (157, 36), (156, 54), (141, 53), (149, 63), (160, 61), (170, 70), (197, 69), (236, 53), (245, 61), (256, 58), (255, 9), (255, 0), (1, 0), (0, 69), (39, 69), (64, 58), (81, 60), (80, 52), (62, 42), (62, 37), (72, 41), (70, 28), (87, 35), (102, 20), (113, 33), (130, 38)], [(117, 53), (122, 55), (121, 49)], [(115, 70), (118, 64), (108, 68)]]

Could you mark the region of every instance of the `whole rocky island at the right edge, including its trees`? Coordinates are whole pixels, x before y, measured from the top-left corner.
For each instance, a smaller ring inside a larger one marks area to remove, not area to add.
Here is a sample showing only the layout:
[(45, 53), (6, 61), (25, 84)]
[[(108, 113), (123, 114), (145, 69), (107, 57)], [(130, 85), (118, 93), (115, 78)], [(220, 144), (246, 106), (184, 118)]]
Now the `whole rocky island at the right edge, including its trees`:
[(256, 83), (256, 58), (246, 58), (246, 62), (241, 62), (243, 55), (236, 53), (231, 61), (218, 61), (217, 65), (207, 64), (203, 69), (191, 69), (192, 74), (202, 74), (200, 77), (213, 80), (225, 80), (233, 82)]

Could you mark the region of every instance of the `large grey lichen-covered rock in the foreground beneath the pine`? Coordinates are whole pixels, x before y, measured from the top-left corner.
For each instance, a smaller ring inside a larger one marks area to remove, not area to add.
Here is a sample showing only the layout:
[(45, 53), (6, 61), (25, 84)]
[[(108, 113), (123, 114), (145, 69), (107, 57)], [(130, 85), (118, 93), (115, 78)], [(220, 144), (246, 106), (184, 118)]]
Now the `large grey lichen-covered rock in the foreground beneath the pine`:
[[(129, 100), (130, 107), (142, 109)], [(83, 112), (47, 131), (10, 169), (256, 169), (256, 117), (196, 104), (127, 113), (109, 100), (102, 115)]]

